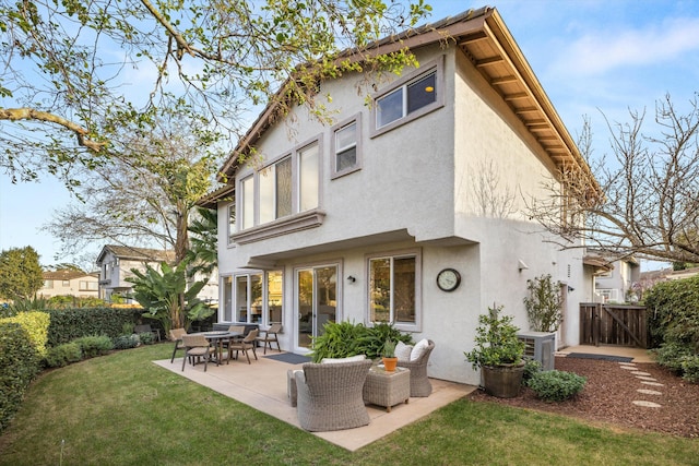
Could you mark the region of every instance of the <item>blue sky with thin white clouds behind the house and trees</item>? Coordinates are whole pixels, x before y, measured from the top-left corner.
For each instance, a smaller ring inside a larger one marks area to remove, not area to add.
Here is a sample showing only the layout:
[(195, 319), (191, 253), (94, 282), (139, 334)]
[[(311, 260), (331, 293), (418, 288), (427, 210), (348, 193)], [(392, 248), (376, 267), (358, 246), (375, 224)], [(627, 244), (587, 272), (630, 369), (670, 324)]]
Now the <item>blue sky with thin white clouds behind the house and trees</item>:
[[(699, 0), (426, 0), (428, 22), (486, 4), (497, 8), (574, 140), (587, 116), (596, 156), (608, 153), (605, 118), (654, 113), (670, 95), (679, 110), (699, 92)], [(12, 184), (0, 174), (0, 250), (32, 246), (42, 265), (73, 262), (42, 227), (74, 202), (60, 181)], [(96, 259), (103, 244), (94, 244)], [(645, 270), (660, 268), (653, 263)]]

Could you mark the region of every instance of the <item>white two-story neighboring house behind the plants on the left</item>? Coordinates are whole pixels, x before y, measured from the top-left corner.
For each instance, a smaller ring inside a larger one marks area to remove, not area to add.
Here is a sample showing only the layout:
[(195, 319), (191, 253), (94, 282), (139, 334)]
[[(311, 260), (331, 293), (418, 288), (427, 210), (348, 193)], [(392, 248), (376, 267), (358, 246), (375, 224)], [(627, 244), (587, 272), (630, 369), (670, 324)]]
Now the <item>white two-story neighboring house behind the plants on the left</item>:
[[(174, 261), (174, 251), (129, 246), (105, 246), (96, 261), (99, 267), (99, 296), (107, 301), (111, 301), (111, 296), (115, 294), (128, 297), (133, 290), (133, 284), (127, 282), (128, 277), (133, 276), (132, 268), (145, 272), (146, 266), (150, 265), (159, 272), (161, 262), (171, 264)], [(201, 280), (202, 277), (196, 275), (193, 279)], [(218, 300), (218, 275), (215, 271), (198, 297), (209, 302)], [(133, 301), (128, 299), (128, 302)]]

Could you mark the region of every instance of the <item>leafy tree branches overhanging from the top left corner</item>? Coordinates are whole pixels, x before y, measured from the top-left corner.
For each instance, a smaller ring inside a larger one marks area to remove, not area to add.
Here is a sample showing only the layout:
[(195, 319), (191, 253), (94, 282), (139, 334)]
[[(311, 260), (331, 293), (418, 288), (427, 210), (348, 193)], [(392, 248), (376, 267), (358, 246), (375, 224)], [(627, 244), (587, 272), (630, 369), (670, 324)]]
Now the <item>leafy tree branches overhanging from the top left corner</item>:
[(47, 170), (71, 186), (73, 167), (104, 163), (117, 138), (127, 143), (163, 109), (234, 136), (256, 105), (306, 104), (327, 118), (316, 83), (414, 63), (400, 45), (374, 57), (370, 44), (429, 10), (424, 0), (3, 1), (0, 167), (13, 181)]

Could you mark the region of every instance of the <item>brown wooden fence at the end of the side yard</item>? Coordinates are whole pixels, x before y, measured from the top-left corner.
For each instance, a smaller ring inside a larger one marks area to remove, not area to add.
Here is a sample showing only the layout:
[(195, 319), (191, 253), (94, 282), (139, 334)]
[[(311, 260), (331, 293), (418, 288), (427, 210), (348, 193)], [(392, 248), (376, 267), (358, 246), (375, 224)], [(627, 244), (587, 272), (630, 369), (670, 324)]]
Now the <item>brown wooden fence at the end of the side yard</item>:
[(580, 303), (580, 344), (648, 347), (642, 306)]

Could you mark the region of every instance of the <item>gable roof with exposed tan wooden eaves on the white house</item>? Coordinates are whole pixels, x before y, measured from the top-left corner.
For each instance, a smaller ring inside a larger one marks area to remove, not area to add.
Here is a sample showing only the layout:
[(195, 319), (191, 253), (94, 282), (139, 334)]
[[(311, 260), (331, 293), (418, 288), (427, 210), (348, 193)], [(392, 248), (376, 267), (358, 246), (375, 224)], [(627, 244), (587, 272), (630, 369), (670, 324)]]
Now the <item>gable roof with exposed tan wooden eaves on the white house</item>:
[[(591, 175), (573, 139), (495, 8), (469, 10), (433, 24), (408, 29), (378, 40), (363, 53), (347, 50), (341, 53), (337, 60), (360, 61), (368, 53), (383, 55), (445, 40), (453, 40), (463, 50), (558, 168), (581, 170)], [(281, 92), (277, 97), (281, 96)], [(279, 104), (272, 99), (224, 163), (220, 180), (233, 178), (238, 166), (238, 157), (252, 147), (274, 122), (277, 110)], [(212, 201), (215, 199), (210, 198), (209, 202)]]

